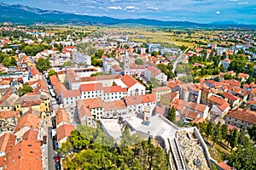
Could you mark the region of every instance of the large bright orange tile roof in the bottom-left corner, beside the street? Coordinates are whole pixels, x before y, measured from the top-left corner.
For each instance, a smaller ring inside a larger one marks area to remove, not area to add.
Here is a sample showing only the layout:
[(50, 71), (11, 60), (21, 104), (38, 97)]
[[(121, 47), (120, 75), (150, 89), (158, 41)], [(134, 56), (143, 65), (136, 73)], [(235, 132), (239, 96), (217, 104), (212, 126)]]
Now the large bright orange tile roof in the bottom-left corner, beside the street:
[(16, 144), (4, 163), (5, 170), (42, 170), (41, 144), (22, 140)]

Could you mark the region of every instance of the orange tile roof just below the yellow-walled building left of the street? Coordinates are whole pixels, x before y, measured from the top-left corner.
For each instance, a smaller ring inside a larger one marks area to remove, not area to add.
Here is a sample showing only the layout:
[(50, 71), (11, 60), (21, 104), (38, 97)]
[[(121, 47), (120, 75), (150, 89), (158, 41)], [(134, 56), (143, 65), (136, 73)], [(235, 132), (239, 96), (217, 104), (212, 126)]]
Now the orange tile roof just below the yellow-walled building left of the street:
[(17, 126), (15, 127), (15, 133), (22, 127), (32, 127), (33, 129), (39, 128), (39, 117), (32, 114), (26, 114), (20, 117)]

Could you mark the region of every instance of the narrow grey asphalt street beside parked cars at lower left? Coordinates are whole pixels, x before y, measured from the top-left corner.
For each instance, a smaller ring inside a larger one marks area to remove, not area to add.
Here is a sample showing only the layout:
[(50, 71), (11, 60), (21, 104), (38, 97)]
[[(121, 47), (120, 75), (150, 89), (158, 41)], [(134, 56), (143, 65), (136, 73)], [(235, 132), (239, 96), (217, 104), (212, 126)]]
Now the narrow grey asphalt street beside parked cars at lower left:
[(53, 150), (53, 142), (51, 139), (51, 127), (48, 127), (48, 169), (49, 170), (55, 170), (55, 161), (53, 157), (55, 156), (55, 150)]

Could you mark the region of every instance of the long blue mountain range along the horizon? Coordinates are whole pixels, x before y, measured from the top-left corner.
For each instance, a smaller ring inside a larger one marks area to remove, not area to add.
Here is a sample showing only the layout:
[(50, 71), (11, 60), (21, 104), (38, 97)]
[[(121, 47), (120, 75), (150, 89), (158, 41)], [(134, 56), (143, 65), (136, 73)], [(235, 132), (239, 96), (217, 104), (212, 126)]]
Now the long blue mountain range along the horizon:
[[(141, 24), (145, 26), (179, 26), (179, 27), (247, 27), (256, 26), (239, 25), (234, 22), (218, 22), (211, 24), (199, 24), (189, 21), (161, 21), (148, 19), (113, 19), (111, 17), (99, 17), (90, 15), (69, 14), (55, 10), (42, 10), (23, 5), (8, 5), (0, 3), (0, 22), (12, 22), (14, 24), (33, 25), (42, 24), (70, 24), (70, 25), (116, 25), (116, 24)], [(229, 24), (230, 23), (230, 24)]]

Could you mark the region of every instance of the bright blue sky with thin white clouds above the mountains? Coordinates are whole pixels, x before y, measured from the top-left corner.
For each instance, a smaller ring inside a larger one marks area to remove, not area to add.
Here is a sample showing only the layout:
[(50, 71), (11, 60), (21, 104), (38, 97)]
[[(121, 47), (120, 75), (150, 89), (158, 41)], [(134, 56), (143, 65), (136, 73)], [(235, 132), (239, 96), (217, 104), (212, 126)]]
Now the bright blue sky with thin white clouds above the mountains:
[(256, 24), (255, 0), (0, 0), (42, 9), (113, 18), (188, 20), (210, 23), (233, 20)]

